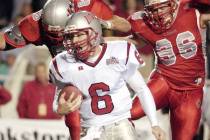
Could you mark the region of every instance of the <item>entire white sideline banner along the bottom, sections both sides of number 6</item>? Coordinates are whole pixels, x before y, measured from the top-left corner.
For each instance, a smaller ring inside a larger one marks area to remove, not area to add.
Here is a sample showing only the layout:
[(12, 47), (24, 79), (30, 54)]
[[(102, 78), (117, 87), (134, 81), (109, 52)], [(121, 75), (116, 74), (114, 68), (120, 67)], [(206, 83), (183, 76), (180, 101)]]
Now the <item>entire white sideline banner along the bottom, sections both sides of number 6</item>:
[[(158, 112), (161, 128), (170, 139), (169, 116)], [(134, 121), (139, 140), (155, 140), (146, 117)], [(0, 140), (69, 140), (63, 120), (0, 119)]]

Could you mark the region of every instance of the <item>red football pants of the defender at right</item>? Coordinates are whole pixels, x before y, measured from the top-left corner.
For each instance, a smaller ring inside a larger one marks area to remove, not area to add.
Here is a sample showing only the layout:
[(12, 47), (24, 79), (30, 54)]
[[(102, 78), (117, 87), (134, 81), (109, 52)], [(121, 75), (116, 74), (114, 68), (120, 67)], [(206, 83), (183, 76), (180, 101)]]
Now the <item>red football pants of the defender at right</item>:
[[(172, 140), (192, 140), (201, 118), (203, 89), (174, 90), (161, 74), (154, 72), (148, 82), (157, 109), (169, 107)], [(131, 109), (132, 119), (144, 116), (138, 97)]]

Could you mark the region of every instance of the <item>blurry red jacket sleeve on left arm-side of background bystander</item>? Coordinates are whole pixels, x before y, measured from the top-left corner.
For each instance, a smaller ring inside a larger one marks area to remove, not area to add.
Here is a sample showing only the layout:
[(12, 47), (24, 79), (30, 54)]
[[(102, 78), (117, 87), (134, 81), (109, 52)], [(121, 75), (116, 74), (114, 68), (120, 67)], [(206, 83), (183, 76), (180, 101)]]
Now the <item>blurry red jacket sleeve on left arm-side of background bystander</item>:
[(19, 115), (19, 118), (27, 118), (27, 94), (28, 94), (28, 85), (25, 84), (23, 87), (22, 92), (20, 93), (18, 104), (17, 104), (17, 112)]

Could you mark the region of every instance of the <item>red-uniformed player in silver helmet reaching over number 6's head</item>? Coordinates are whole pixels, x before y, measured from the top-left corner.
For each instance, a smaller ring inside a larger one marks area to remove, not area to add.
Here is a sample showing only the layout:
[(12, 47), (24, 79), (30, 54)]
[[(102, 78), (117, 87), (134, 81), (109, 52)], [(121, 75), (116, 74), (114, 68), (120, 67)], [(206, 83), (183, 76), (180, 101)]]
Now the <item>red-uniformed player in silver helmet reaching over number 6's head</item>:
[[(69, 7), (72, 4), (73, 7)], [(0, 49), (21, 48), (29, 43), (45, 44), (54, 57), (63, 51), (61, 31), (68, 19), (69, 12), (72, 12), (71, 10), (74, 12), (91, 11), (109, 29), (126, 32), (127, 30), (124, 29), (130, 28), (130, 24), (125, 19), (113, 15), (111, 9), (101, 0), (73, 0), (71, 4), (69, 0), (51, 0), (45, 4), (42, 10), (23, 18), (18, 25), (8, 29), (3, 35), (0, 34)], [(72, 140), (76, 140), (79, 139), (77, 136), (80, 132), (78, 126), (80, 123), (73, 115), (78, 116), (78, 113), (66, 116), (66, 125), (70, 131), (73, 131), (71, 132)], [(71, 124), (71, 121), (75, 125)]]

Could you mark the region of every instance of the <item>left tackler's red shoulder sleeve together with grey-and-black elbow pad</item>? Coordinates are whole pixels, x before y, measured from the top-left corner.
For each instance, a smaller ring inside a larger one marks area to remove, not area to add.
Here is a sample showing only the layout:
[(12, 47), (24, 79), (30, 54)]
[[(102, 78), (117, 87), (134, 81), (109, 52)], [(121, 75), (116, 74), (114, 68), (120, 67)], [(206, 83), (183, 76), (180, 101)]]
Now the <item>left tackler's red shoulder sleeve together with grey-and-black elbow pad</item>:
[(5, 50), (24, 47), (28, 43), (38, 45), (40, 37), (40, 17), (41, 11), (33, 13), (23, 18), (18, 25), (8, 29), (4, 33), (6, 41)]

